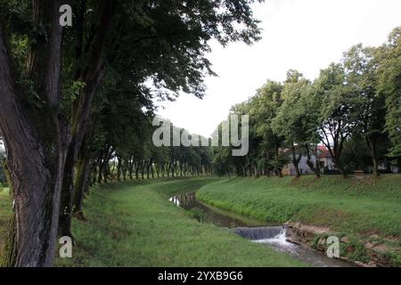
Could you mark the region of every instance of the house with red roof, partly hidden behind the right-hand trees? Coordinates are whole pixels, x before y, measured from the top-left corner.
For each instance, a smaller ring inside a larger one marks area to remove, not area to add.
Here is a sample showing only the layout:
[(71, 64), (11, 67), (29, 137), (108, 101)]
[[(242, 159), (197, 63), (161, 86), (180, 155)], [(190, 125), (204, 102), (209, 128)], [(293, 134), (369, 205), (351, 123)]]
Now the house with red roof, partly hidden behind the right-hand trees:
[[(324, 172), (324, 169), (334, 170), (334, 162), (331, 158), (330, 151), (324, 145), (317, 146), (317, 154), (319, 159), (319, 166), (321, 173)], [(290, 160), (292, 159), (292, 155), (290, 154)], [(310, 160), (316, 164), (316, 156), (311, 155)], [(299, 160), (299, 172), (301, 175), (313, 174), (314, 172), (310, 167), (307, 166), (307, 156), (302, 155)], [(282, 167), (282, 175), (296, 175), (295, 167), (292, 162), (288, 163), (284, 167)]]

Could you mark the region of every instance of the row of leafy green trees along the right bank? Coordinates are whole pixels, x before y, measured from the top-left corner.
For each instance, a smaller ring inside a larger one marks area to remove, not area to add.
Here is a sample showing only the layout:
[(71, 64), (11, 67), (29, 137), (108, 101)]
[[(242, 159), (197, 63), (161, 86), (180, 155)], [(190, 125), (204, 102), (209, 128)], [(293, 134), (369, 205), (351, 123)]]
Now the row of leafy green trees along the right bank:
[(282, 175), (299, 160), (319, 176), (316, 146), (330, 152), (341, 175), (390, 161), (401, 169), (401, 28), (379, 47), (353, 46), (313, 82), (290, 70), (284, 82), (267, 80), (255, 96), (235, 105), (232, 114), (250, 115), (250, 152), (232, 158), (217, 148), (219, 175)]

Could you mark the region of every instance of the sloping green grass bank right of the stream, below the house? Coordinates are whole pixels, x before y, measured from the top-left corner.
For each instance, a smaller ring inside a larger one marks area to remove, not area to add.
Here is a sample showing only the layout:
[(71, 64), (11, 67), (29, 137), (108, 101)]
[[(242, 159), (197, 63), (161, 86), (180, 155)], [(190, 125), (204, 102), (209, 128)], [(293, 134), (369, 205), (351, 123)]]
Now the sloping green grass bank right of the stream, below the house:
[(358, 242), (378, 244), (401, 265), (401, 175), (236, 178), (209, 183), (197, 197), (259, 220), (329, 227)]

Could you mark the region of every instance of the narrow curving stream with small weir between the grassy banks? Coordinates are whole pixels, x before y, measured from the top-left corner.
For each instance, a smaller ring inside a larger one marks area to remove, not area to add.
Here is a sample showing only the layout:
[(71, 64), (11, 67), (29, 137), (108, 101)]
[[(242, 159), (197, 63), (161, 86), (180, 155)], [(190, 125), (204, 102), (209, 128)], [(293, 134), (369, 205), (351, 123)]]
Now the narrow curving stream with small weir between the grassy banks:
[(169, 199), (177, 207), (192, 211), (194, 216), (202, 222), (212, 223), (222, 228), (227, 228), (233, 233), (250, 240), (266, 245), (266, 247), (289, 254), (316, 267), (355, 267), (356, 265), (345, 261), (329, 258), (324, 253), (317, 252), (306, 246), (296, 245), (286, 240), (285, 227), (281, 224), (267, 224), (252, 221), (245, 222), (247, 219), (234, 218), (224, 214), (224, 211), (217, 211), (209, 208), (196, 199), (195, 192), (184, 192), (177, 194)]

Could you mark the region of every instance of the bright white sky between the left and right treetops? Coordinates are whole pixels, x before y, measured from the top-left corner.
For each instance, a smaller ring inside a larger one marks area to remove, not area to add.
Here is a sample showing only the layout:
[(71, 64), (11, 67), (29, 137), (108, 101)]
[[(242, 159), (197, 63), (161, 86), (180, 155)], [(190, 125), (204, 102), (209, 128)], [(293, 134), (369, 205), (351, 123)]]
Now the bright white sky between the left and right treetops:
[(211, 43), (209, 61), (218, 77), (206, 78), (207, 96), (180, 94), (163, 102), (163, 118), (190, 133), (209, 136), (231, 106), (247, 100), (267, 78), (282, 81), (288, 69), (309, 79), (352, 45), (381, 45), (401, 26), (400, 0), (266, 0), (254, 4), (262, 40), (254, 45)]

